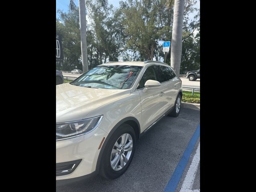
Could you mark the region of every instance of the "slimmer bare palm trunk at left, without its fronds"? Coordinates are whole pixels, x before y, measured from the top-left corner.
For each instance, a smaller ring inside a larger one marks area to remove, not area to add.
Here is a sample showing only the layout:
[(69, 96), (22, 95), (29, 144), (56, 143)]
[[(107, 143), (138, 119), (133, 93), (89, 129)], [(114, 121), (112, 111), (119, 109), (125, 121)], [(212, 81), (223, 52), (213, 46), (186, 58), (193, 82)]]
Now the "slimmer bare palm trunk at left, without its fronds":
[(85, 0), (78, 0), (83, 73), (88, 71)]

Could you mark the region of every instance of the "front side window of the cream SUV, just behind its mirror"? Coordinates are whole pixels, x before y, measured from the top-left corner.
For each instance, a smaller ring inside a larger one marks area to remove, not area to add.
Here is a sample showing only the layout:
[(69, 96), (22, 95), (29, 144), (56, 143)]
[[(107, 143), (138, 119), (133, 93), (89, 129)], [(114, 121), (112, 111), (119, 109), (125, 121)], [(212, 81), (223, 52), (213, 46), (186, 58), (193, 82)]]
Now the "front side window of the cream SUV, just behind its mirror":
[(149, 66), (144, 72), (137, 89), (144, 88), (147, 80), (159, 81), (158, 70), (156, 66)]

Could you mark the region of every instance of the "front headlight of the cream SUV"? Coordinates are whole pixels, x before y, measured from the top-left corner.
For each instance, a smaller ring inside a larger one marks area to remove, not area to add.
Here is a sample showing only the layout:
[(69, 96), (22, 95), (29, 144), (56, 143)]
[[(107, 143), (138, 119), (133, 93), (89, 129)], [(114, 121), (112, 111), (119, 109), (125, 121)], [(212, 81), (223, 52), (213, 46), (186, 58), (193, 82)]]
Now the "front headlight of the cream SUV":
[(102, 116), (79, 121), (56, 123), (56, 140), (63, 140), (91, 132), (98, 126)]

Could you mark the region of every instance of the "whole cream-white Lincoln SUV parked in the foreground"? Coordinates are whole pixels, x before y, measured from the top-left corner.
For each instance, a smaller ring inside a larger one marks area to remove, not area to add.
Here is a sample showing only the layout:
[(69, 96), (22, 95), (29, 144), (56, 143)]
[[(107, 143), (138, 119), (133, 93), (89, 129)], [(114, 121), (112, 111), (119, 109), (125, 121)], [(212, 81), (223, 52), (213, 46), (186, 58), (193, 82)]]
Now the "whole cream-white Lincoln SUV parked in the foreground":
[(122, 175), (136, 141), (178, 116), (182, 82), (165, 63), (108, 62), (56, 86), (56, 184)]

